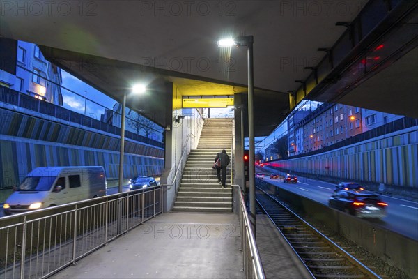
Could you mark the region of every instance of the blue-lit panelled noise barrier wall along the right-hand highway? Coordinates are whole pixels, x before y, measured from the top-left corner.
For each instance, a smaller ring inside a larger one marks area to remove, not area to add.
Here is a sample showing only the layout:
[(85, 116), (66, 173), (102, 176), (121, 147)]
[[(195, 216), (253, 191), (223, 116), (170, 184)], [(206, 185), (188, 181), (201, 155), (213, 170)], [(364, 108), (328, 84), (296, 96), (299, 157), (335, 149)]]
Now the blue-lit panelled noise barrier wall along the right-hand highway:
[(418, 188), (418, 130), (399, 131), (326, 153), (272, 163), (293, 172)]

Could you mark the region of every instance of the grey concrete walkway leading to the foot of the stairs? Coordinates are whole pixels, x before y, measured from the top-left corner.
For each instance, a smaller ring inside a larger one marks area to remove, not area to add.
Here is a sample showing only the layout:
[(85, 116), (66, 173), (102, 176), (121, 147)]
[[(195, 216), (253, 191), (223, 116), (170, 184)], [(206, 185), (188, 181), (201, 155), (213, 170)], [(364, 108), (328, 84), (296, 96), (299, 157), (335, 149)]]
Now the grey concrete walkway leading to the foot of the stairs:
[(245, 278), (238, 216), (164, 213), (51, 278)]

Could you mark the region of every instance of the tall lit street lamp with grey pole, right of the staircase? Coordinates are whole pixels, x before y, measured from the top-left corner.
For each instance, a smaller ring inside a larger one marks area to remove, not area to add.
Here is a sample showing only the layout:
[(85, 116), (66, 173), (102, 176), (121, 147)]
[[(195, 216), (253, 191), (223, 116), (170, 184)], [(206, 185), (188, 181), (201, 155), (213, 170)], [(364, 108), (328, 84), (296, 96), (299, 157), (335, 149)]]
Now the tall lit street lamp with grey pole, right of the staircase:
[(219, 47), (245, 47), (247, 46), (247, 70), (248, 70), (248, 137), (249, 137), (249, 220), (256, 235), (256, 187), (254, 184), (254, 66), (253, 66), (254, 36), (239, 36), (218, 40)]

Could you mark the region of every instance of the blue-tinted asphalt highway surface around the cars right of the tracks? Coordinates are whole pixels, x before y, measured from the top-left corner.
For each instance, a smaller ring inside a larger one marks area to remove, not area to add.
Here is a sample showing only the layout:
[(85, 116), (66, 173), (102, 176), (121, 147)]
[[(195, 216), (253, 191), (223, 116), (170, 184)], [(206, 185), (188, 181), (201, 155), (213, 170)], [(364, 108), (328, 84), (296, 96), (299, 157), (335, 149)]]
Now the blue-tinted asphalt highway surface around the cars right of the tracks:
[[(296, 184), (284, 183), (283, 179), (270, 179), (270, 174), (272, 173), (284, 174), (277, 172), (277, 170), (270, 169), (269, 167), (257, 167), (256, 172), (263, 172), (265, 174), (264, 180), (272, 183), (274, 186), (284, 188), (304, 197), (309, 197), (321, 204), (327, 205), (328, 199), (334, 193), (335, 184), (333, 183), (307, 179), (301, 176), (297, 176), (298, 182)], [(387, 216), (381, 219), (368, 218), (366, 220), (408, 236), (411, 239), (418, 240), (418, 203), (386, 195), (379, 196), (384, 202), (389, 204), (387, 206)]]

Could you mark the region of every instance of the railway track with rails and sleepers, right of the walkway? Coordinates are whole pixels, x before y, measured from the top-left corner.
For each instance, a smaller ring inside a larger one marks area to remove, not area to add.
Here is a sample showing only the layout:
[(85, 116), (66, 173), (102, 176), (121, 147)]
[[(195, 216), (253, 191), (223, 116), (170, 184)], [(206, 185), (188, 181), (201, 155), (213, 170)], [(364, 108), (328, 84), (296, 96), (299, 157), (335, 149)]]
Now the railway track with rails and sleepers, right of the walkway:
[(380, 278), (327, 236), (259, 188), (256, 189), (256, 201), (314, 278)]

